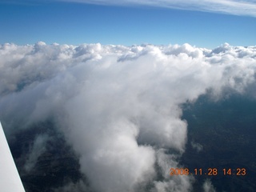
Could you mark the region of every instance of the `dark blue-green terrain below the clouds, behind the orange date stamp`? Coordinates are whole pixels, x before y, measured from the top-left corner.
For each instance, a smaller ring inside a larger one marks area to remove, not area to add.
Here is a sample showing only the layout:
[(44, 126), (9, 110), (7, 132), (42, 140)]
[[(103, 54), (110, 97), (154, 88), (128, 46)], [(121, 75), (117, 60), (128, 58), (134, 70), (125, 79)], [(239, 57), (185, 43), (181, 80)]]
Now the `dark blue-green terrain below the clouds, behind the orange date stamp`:
[[(206, 178), (216, 191), (256, 191), (256, 99), (233, 94), (216, 102), (204, 95), (182, 107), (188, 142), (181, 163), (193, 171), (202, 168), (194, 191), (202, 191)], [(191, 142), (203, 149), (195, 150)], [(218, 174), (205, 175), (209, 168), (218, 169)], [(224, 175), (224, 168), (231, 169), (231, 175)], [(246, 175), (237, 175), (238, 168), (245, 168)]]

